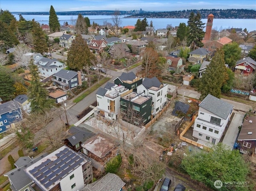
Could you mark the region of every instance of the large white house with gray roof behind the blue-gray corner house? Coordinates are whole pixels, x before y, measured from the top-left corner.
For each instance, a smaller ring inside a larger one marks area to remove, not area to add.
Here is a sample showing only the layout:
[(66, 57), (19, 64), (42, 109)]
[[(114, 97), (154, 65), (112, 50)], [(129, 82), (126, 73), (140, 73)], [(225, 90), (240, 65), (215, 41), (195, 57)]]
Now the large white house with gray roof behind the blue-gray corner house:
[(57, 59), (49, 59), (49, 58), (41, 58), (39, 61), (35, 63), (38, 67), (39, 75), (43, 77), (49, 77), (61, 69), (66, 68), (64, 63), (61, 63)]

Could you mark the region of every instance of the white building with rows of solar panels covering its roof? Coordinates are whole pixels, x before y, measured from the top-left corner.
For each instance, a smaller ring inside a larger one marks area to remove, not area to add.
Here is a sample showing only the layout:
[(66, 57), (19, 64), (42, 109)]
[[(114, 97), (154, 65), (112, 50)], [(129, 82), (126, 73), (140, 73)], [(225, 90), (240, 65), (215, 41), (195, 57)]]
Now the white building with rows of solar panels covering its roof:
[(34, 183), (34, 190), (77, 191), (92, 181), (91, 164), (86, 155), (62, 146), (22, 170)]

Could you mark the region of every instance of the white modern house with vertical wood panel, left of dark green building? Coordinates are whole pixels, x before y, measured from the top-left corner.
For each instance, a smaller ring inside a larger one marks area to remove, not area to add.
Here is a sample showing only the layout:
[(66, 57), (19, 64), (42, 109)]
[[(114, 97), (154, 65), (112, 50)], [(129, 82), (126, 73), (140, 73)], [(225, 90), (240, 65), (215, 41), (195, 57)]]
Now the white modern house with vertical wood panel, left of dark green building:
[(116, 120), (120, 114), (120, 97), (132, 92), (122, 85), (107, 83), (96, 92), (98, 112), (111, 120)]

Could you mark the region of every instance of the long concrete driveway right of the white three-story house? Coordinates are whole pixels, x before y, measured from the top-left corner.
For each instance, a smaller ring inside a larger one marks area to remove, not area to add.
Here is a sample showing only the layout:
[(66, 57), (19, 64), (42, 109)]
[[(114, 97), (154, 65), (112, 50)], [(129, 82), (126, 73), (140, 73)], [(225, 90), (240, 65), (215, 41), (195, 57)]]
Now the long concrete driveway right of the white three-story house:
[(236, 137), (238, 136), (239, 132), (238, 126), (242, 124), (243, 118), (244, 114), (241, 114), (241, 112), (234, 112), (234, 117), (228, 127), (226, 135), (224, 136), (222, 143), (226, 144), (230, 150), (233, 149)]

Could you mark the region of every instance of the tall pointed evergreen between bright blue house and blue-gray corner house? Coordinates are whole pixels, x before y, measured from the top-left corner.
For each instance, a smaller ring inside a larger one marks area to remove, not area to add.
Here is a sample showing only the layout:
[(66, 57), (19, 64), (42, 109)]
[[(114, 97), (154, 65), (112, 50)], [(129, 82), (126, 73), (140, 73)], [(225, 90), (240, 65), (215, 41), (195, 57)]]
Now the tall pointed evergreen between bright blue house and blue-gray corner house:
[(49, 110), (54, 103), (53, 99), (47, 99), (48, 91), (40, 82), (39, 72), (31, 59), (28, 65), (31, 74), (31, 85), (28, 87), (28, 100), (31, 103), (31, 112), (44, 112)]

